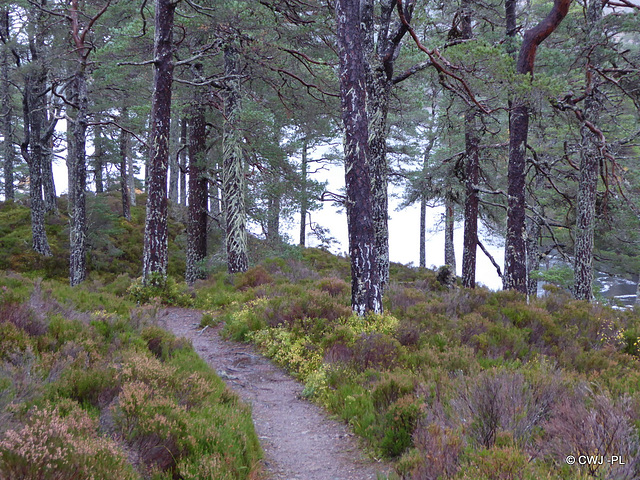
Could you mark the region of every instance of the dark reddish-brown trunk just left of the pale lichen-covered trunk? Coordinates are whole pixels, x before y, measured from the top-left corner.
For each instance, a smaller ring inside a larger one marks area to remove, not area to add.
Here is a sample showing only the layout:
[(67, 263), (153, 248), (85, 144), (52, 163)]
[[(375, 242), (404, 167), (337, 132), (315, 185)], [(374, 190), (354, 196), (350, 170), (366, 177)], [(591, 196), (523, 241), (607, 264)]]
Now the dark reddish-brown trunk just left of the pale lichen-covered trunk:
[(206, 121), (203, 102), (192, 106), (189, 118), (189, 219), (187, 225), (187, 271), (192, 285), (206, 278), (202, 261), (207, 256), (207, 200), (209, 198), (206, 159)]

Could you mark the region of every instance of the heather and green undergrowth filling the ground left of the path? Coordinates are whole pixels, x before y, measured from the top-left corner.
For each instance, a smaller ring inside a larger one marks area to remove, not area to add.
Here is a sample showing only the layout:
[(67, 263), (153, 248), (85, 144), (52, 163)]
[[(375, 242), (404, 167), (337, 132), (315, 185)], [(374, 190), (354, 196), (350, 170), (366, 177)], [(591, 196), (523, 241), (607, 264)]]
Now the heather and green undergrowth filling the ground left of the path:
[(157, 307), (96, 289), (0, 275), (0, 478), (255, 478), (249, 408)]

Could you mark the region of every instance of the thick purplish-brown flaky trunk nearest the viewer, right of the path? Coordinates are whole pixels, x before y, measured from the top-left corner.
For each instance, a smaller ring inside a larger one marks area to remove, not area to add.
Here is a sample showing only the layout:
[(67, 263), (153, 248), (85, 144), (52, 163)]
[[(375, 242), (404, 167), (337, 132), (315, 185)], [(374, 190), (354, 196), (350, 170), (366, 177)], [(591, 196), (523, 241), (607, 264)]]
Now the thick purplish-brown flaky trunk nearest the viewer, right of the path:
[(369, 128), (359, 0), (336, 3), (340, 97), (344, 124), (347, 223), (351, 256), (351, 306), (358, 315), (382, 312), (376, 267), (368, 164)]

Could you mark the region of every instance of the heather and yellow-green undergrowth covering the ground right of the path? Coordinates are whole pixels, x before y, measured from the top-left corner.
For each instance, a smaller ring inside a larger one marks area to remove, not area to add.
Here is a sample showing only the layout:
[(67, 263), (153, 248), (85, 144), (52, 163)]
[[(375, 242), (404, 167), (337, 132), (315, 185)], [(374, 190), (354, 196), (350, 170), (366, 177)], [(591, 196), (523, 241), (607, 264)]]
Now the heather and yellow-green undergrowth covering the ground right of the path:
[[(304, 256), (203, 281), (196, 303), (300, 379), (398, 477), (637, 478), (637, 312), (557, 289), (529, 303), (447, 289), (396, 265), (386, 313), (361, 318), (349, 309), (348, 262)], [(568, 455), (623, 460), (569, 466)]]

